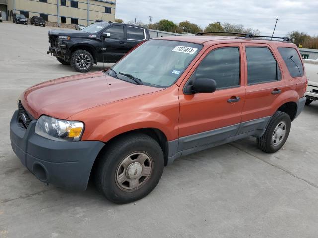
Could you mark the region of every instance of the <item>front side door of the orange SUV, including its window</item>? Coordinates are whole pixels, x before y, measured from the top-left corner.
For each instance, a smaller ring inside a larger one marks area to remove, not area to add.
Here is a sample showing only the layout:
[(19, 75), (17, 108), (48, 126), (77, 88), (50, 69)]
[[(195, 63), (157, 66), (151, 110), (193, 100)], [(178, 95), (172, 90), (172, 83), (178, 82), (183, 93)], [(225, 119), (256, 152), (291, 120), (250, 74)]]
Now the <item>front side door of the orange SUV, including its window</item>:
[[(245, 101), (245, 72), (241, 44), (221, 44), (208, 49), (191, 70), (191, 77), (210, 78), (214, 93), (186, 95), (179, 89), (181, 150), (234, 136), (239, 130)], [(183, 138), (182, 138), (183, 137)]]

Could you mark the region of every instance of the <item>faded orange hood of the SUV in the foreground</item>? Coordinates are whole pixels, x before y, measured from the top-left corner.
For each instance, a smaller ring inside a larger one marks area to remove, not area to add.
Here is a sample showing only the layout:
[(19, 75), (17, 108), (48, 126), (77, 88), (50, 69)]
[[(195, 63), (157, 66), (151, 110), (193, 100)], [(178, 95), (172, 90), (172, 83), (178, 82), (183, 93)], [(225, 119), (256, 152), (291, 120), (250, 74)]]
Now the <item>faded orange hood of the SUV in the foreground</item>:
[(99, 105), (163, 90), (113, 78), (103, 71), (37, 84), (21, 95), (24, 108), (36, 119), (42, 114), (59, 119)]

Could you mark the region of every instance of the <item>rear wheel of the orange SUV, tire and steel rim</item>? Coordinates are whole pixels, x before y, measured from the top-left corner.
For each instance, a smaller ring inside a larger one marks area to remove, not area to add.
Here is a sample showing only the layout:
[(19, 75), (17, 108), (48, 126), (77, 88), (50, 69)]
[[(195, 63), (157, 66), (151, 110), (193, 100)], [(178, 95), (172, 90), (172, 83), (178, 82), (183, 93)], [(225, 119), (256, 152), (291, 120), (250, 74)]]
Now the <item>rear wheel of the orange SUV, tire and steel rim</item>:
[(266, 153), (274, 153), (285, 144), (290, 131), (290, 117), (277, 111), (262, 137), (257, 138), (257, 146)]

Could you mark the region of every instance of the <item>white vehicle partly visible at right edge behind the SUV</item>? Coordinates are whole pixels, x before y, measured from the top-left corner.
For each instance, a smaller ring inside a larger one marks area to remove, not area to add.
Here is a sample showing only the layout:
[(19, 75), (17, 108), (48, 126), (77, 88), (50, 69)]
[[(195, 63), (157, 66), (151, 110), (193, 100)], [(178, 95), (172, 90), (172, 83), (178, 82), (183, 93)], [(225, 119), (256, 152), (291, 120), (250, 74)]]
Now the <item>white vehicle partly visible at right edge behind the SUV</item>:
[(303, 61), (308, 79), (308, 86), (305, 93), (306, 105), (309, 105), (313, 101), (318, 100), (318, 59), (304, 59)]

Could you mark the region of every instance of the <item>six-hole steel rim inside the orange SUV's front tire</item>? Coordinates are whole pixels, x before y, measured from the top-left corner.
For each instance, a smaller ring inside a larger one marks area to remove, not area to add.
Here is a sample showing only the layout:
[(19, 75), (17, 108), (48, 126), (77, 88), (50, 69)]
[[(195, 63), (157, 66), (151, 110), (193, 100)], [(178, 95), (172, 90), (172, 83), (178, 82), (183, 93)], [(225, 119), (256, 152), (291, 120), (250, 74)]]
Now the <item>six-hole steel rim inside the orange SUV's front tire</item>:
[(126, 156), (116, 170), (115, 181), (123, 191), (135, 191), (149, 179), (153, 170), (153, 159), (144, 151)]

